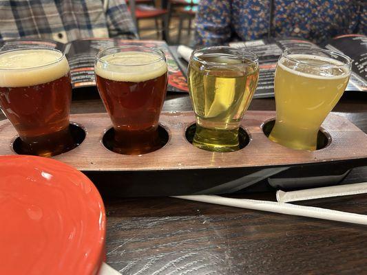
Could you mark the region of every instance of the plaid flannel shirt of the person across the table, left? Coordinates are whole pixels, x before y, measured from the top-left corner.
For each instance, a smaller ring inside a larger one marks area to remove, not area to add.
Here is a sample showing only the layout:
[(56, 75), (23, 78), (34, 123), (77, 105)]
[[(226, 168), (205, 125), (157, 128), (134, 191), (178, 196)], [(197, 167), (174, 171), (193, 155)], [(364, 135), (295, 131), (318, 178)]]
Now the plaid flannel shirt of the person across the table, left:
[(0, 0), (0, 41), (138, 37), (125, 0)]

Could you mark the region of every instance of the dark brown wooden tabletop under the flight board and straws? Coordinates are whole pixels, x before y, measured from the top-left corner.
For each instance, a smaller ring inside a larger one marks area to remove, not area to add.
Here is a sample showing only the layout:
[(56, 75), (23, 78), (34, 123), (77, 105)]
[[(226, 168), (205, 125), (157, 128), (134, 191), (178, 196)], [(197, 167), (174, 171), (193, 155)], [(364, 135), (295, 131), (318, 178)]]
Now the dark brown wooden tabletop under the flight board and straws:
[[(163, 109), (191, 110), (189, 96), (169, 94)], [(255, 99), (249, 109), (275, 103)], [(104, 111), (98, 98), (72, 102), (72, 113)], [(367, 132), (367, 94), (345, 94), (334, 111)], [(367, 168), (344, 180), (359, 181)], [(367, 214), (367, 195), (300, 204)], [(107, 263), (123, 274), (367, 274), (366, 226), (169, 197), (105, 199), (105, 207)]]

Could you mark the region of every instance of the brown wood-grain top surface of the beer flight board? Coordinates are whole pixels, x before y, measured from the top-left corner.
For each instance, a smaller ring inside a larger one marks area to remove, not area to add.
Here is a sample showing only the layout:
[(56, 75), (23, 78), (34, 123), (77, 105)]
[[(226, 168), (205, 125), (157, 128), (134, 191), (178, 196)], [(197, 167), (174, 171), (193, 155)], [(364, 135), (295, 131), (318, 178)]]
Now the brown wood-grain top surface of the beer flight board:
[[(262, 124), (273, 118), (274, 111), (247, 111), (240, 126), (251, 137), (249, 144), (239, 151), (213, 153), (187, 141), (186, 129), (195, 123), (192, 111), (162, 112), (160, 124), (169, 133), (167, 144), (144, 155), (120, 155), (107, 150), (101, 142), (103, 133), (112, 127), (107, 113), (76, 114), (70, 120), (83, 126), (85, 140), (72, 151), (53, 158), (83, 171), (266, 167), (367, 159), (367, 135), (342, 116), (328, 115), (322, 128), (331, 136), (331, 144), (317, 151), (298, 151), (271, 142)], [(13, 153), (10, 144), (16, 135), (9, 120), (0, 122), (0, 155)]]

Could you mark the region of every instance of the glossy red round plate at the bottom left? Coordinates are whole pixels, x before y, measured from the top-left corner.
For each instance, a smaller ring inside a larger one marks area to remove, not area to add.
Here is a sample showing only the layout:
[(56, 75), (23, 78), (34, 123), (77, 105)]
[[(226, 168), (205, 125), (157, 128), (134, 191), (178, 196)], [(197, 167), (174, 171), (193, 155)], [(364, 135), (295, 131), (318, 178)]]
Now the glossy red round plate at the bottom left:
[(96, 274), (105, 208), (92, 181), (45, 157), (0, 157), (0, 274)]

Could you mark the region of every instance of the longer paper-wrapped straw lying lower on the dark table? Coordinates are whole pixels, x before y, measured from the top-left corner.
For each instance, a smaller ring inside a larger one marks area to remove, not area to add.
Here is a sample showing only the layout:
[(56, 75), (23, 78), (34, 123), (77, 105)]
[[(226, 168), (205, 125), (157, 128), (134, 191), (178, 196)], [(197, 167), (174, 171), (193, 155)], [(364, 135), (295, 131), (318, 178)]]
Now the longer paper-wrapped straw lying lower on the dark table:
[(331, 221), (343, 221), (345, 223), (359, 223), (367, 225), (367, 216), (363, 214), (355, 214), (311, 206), (296, 206), (290, 203), (258, 201), (255, 199), (231, 199), (227, 197), (219, 197), (216, 195), (189, 195), (176, 196), (176, 198), (188, 199), (191, 201), (201, 201), (206, 203), (215, 203), (222, 206), (233, 206), (238, 208), (248, 208), (253, 210), (261, 210), (281, 214), (292, 214), (295, 216), (311, 217), (316, 219), (328, 219)]

